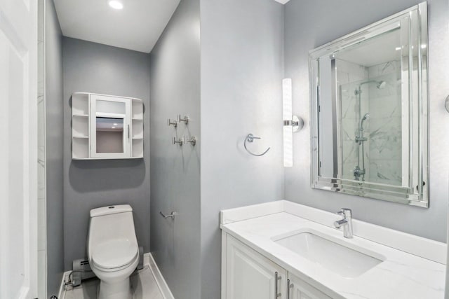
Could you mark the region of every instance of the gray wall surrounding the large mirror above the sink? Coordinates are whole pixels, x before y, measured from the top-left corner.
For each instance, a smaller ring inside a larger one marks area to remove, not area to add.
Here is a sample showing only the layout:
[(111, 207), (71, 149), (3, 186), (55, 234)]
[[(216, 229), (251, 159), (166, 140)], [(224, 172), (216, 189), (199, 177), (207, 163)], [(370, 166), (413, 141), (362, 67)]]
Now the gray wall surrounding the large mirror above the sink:
[[(285, 76), (293, 79), (293, 111), (309, 122), (308, 52), (372, 22), (418, 4), (416, 0), (291, 0), (285, 6)], [(349, 207), (354, 218), (445, 242), (449, 165), (449, 116), (443, 102), (449, 94), (448, 1), (429, 4), (430, 208), (370, 200), (310, 188), (309, 125), (294, 136), (294, 167), (285, 170), (286, 200), (326, 211)]]

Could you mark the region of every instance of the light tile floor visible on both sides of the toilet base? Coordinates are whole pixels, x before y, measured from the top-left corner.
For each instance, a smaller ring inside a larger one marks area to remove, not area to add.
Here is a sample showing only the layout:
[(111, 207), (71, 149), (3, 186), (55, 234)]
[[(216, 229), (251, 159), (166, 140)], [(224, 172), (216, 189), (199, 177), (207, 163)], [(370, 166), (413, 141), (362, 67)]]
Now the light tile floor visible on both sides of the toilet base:
[[(134, 272), (131, 277), (133, 299), (164, 299), (152, 270), (146, 264), (142, 270)], [(68, 287), (61, 299), (97, 299), (100, 280), (89, 279), (81, 286)]]

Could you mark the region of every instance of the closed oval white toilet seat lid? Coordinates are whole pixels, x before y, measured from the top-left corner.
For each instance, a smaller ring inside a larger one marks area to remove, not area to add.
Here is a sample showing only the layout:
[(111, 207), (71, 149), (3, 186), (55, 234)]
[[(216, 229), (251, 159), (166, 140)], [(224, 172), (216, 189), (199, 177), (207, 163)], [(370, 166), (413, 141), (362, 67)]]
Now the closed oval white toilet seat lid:
[(95, 246), (92, 252), (94, 265), (104, 269), (123, 267), (138, 255), (138, 246), (128, 239), (114, 239)]

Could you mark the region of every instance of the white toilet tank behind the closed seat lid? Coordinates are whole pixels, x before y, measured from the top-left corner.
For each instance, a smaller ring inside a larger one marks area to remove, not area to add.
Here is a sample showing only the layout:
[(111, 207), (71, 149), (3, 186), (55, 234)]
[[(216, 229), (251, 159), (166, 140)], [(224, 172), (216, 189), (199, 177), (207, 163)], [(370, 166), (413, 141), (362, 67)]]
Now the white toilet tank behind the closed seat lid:
[(110, 239), (128, 239), (137, 246), (133, 208), (129, 204), (91, 209), (87, 239), (88, 256), (91, 256), (92, 246)]

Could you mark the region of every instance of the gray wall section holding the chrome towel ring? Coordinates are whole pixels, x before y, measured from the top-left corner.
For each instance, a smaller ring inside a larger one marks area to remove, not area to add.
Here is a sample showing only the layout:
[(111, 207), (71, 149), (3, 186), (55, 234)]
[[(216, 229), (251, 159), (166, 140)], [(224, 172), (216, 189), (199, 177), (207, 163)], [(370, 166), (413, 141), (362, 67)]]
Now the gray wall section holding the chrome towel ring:
[(282, 78), (281, 4), (201, 1), (201, 298), (220, 298), (220, 209), (283, 199)]

